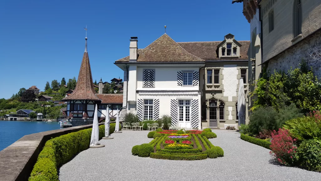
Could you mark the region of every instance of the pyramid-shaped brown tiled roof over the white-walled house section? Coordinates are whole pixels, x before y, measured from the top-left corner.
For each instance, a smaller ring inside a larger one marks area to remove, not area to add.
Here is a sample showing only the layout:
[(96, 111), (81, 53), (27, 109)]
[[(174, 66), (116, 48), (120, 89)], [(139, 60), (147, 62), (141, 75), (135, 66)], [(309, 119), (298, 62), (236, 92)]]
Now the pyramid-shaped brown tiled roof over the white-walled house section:
[[(138, 50), (137, 62), (204, 62), (178, 45), (167, 34), (163, 34), (153, 43)], [(116, 62), (129, 62), (129, 56)]]

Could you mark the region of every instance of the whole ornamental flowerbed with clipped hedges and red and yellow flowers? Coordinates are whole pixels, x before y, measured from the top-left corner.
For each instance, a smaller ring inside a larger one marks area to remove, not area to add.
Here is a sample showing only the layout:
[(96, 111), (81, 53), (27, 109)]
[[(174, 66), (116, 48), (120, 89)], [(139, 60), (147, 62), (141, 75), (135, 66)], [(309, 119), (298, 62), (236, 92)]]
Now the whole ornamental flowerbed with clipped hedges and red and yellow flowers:
[(216, 138), (211, 129), (198, 130), (156, 130), (147, 135), (154, 138), (148, 144), (136, 145), (132, 154), (169, 160), (202, 160), (223, 157), (221, 147), (214, 146), (208, 138)]

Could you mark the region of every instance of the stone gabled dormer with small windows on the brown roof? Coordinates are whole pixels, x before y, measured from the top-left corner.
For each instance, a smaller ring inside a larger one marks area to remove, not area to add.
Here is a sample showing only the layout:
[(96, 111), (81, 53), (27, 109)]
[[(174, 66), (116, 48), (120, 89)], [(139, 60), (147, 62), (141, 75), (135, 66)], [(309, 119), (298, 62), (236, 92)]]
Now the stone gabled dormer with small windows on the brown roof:
[(239, 58), (241, 46), (241, 43), (234, 39), (234, 35), (225, 35), (224, 40), (217, 45), (219, 58)]

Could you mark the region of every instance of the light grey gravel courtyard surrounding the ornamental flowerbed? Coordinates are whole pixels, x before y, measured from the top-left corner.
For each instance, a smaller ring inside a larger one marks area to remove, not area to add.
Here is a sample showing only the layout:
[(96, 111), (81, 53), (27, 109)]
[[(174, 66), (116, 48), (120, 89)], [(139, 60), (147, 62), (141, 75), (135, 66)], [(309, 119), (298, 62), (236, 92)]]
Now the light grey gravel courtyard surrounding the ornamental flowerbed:
[(241, 140), (236, 131), (213, 130), (209, 139), (224, 157), (195, 161), (161, 160), (133, 156), (134, 145), (148, 143), (148, 131), (123, 130), (114, 139), (102, 139), (104, 148), (89, 148), (60, 168), (60, 181), (74, 180), (320, 180), (321, 173), (271, 163), (269, 150)]

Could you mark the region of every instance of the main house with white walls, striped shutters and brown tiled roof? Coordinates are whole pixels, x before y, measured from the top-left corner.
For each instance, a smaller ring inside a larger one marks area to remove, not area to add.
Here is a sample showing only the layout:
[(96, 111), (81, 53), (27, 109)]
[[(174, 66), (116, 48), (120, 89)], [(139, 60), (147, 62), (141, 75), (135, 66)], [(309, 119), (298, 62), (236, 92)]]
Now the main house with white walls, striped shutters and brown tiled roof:
[(227, 34), (217, 42), (177, 43), (165, 33), (144, 49), (137, 42), (131, 37), (129, 56), (115, 62), (124, 71), (123, 113), (140, 120), (169, 115), (187, 129), (238, 125), (239, 80), (247, 95), (252, 76), (250, 41)]

